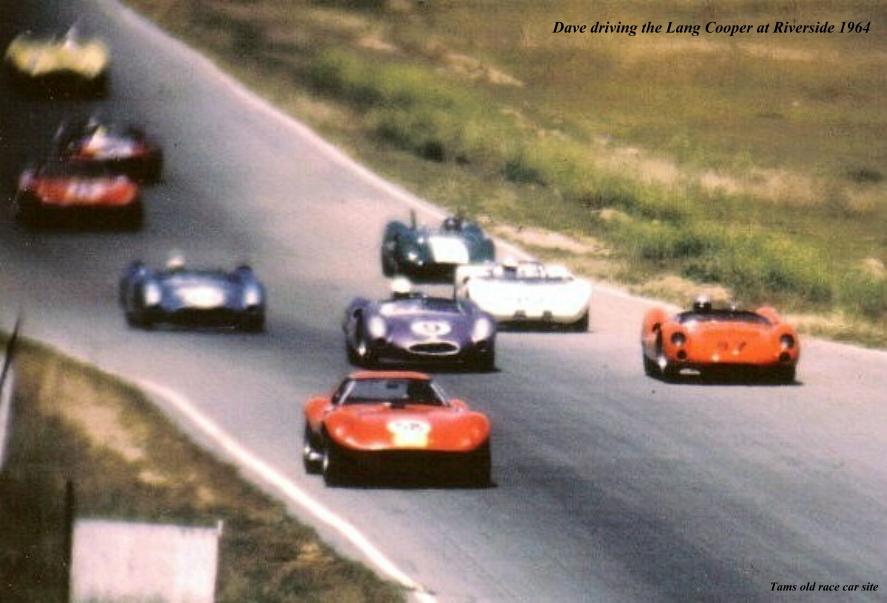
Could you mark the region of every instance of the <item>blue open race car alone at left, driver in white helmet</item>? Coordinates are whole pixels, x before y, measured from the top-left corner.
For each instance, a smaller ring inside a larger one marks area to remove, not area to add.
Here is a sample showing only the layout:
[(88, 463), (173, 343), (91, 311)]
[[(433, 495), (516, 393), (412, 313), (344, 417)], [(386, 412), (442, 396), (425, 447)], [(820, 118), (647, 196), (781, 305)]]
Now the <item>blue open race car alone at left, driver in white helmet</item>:
[(249, 266), (225, 270), (193, 269), (174, 256), (162, 270), (140, 261), (127, 266), (119, 286), (120, 304), (132, 327), (158, 323), (180, 326), (265, 328), (265, 287)]

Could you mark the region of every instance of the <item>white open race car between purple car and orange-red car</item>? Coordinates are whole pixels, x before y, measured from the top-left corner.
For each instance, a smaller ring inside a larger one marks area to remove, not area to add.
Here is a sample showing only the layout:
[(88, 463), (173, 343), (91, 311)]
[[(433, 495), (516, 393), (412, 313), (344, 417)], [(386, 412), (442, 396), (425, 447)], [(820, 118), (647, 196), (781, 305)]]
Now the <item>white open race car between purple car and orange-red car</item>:
[(540, 262), (469, 264), (456, 269), (456, 296), (471, 299), (500, 325), (563, 325), (588, 330), (591, 283)]

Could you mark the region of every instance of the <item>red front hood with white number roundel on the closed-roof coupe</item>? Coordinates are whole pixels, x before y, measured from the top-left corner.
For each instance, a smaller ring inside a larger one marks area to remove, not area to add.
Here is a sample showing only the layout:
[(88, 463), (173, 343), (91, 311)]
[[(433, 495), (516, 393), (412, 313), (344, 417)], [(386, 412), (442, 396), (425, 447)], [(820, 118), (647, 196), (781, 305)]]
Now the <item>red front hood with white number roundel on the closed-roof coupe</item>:
[(452, 406), (344, 405), (324, 423), (340, 446), (363, 451), (470, 452), (490, 435), (484, 415)]

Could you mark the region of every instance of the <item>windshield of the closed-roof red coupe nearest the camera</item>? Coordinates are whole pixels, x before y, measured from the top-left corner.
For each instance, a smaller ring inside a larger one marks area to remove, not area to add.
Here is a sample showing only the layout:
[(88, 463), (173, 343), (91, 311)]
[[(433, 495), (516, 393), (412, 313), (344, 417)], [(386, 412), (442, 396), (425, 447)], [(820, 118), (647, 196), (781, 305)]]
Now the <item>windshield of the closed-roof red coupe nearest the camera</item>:
[(333, 403), (339, 406), (389, 404), (449, 406), (443, 390), (430, 379), (410, 377), (371, 377), (347, 379), (336, 390)]

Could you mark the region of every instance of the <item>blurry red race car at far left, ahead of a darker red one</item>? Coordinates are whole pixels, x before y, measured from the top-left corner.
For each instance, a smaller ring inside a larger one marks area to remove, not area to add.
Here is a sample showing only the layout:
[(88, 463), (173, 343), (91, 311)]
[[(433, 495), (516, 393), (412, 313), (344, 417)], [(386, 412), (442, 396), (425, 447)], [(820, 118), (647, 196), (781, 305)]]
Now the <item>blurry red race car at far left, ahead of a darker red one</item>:
[(101, 165), (58, 158), (22, 172), (13, 213), (28, 227), (138, 229), (143, 219), (138, 184)]

